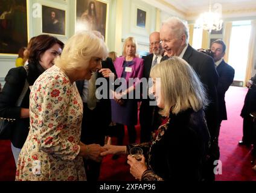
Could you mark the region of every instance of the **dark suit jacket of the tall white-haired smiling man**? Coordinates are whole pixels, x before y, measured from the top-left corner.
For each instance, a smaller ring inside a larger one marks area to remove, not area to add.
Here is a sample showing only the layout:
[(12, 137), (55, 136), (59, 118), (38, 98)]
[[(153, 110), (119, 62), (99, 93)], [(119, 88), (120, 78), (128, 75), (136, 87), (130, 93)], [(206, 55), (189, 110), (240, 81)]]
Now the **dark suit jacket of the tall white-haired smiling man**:
[[(167, 60), (168, 56), (162, 58), (161, 61)], [(218, 122), (218, 102), (217, 102), (217, 84), (219, 82), (219, 75), (217, 74), (214, 60), (209, 55), (196, 51), (188, 45), (183, 59), (193, 67), (197, 76), (205, 86), (206, 93), (210, 104), (206, 107), (205, 117), (211, 136), (217, 135)]]

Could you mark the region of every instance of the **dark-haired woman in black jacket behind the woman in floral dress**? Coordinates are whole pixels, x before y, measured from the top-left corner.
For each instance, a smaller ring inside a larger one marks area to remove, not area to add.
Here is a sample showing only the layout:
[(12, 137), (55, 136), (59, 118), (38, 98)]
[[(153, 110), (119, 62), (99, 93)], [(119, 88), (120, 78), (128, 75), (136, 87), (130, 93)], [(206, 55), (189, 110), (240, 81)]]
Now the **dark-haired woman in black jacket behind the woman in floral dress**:
[[(53, 36), (35, 37), (30, 48), (28, 65), (10, 69), (5, 77), (5, 84), (0, 93), (0, 117), (15, 119), (10, 140), (16, 164), (30, 125), (28, 86), (32, 86), (40, 74), (54, 65), (54, 59), (61, 54), (63, 46), (63, 42)], [(20, 97), (22, 93), (23, 98)], [(21, 100), (20, 106), (16, 106), (18, 100)]]

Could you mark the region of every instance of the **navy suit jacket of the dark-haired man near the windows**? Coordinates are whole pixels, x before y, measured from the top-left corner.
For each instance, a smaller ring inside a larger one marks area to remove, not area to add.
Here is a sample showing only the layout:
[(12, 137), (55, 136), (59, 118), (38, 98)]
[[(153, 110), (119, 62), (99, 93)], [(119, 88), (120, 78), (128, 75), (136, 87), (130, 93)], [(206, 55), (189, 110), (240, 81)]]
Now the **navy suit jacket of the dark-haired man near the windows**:
[(217, 94), (219, 101), (219, 118), (220, 121), (226, 120), (226, 102), (225, 102), (225, 93), (228, 90), (229, 86), (234, 80), (235, 70), (229, 66), (224, 60), (216, 68), (219, 74), (219, 84), (217, 86)]

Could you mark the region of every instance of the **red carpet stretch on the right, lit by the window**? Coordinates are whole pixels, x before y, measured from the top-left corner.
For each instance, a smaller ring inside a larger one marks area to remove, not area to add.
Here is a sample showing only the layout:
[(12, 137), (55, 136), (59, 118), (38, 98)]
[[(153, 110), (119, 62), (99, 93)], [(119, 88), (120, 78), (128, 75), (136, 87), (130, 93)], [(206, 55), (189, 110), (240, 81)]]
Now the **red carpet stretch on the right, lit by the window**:
[(243, 119), (240, 116), (247, 88), (229, 87), (226, 92), (228, 120), (222, 122), (219, 146), (222, 161), (222, 175), (218, 181), (256, 181), (256, 172), (252, 170), (250, 149), (238, 145), (243, 136)]

